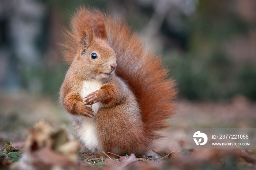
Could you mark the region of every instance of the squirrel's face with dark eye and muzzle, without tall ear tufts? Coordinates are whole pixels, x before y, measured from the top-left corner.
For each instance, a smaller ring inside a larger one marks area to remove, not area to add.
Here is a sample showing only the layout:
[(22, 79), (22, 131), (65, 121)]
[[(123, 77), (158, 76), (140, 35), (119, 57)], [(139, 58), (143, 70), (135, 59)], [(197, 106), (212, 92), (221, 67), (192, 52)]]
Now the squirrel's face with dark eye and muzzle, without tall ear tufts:
[(105, 40), (95, 38), (90, 42), (84, 34), (75, 62), (86, 79), (103, 80), (114, 74), (116, 54)]

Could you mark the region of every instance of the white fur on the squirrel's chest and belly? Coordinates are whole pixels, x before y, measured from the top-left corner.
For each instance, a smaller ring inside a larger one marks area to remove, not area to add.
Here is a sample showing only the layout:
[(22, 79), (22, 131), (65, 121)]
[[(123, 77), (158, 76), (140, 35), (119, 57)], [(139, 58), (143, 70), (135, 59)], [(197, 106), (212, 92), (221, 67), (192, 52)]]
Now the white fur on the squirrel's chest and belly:
[[(99, 81), (84, 81), (83, 88), (80, 92), (81, 97), (86, 97), (88, 94), (99, 90), (102, 86), (102, 82)], [(94, 124), (94, 117), (98, 112), (98, 109), (101, 108), (103, 105), (102, 103), (98, 102), (91, 105), (94, 116), (92, 118), (79, 116), (79, 115), (72, 115), (73, 120), (76, 121), (76, 132), (80, 141), (89, 149), (91, 152), (96, 152), (100, 150), (101, 147), (98, 144), (96, 126)]]

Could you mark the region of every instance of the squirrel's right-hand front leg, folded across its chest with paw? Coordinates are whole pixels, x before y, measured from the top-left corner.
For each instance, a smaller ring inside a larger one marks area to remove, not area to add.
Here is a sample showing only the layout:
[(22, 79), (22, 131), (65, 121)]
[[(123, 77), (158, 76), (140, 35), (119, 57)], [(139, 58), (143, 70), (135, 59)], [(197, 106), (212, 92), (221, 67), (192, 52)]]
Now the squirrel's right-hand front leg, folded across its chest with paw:
[[(119, 92), (120, 93), (120, 92)], [(105, 107), (112, 107), (120, 103), (121, 95), (118, 93), (118, 87), (114, 85), (105, 85), (101, 89), (84, 97), (83, 103), (85, 105), (92, 105), (97, 102), (105, 104)]]

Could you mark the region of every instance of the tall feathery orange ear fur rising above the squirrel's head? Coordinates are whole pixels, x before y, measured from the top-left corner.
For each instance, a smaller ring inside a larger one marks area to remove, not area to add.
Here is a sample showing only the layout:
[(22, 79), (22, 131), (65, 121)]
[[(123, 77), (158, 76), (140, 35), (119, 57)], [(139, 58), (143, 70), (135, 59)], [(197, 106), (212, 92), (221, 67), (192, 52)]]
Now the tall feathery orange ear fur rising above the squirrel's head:
[(108, 40), (106, 16), (97, 9), (80, 7), (71, 19), (72, 30), (64, 30), (65, 42), (61, 44), (65, 60), (72, 63), (79, 47), (89, 47), (93, 38)]

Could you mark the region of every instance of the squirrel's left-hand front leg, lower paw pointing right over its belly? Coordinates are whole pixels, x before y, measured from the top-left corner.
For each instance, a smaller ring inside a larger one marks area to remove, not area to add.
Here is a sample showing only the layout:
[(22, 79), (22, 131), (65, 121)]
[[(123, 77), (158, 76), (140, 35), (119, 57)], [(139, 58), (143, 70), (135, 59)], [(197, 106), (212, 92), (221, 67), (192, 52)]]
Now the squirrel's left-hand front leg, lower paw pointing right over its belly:
[(82, 103), (83, 99), (79, 94), (68, 95), (64, 98), (63, 105), (72, 115), (93, 117), (92, 108)]

